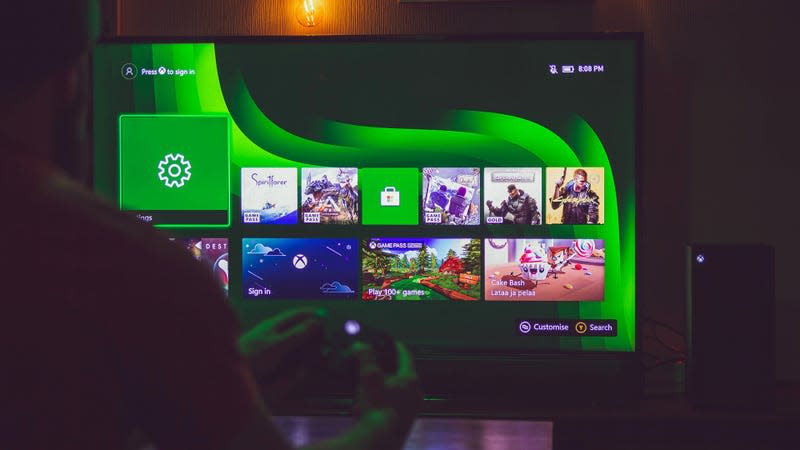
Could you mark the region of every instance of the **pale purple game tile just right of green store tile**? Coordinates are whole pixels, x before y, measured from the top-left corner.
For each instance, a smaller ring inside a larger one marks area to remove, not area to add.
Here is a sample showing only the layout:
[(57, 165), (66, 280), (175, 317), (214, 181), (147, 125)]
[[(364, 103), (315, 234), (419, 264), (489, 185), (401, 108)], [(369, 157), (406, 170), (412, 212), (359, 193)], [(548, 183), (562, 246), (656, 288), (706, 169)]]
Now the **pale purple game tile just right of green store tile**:
[(479, 168), (422, 169), (423, 222), (479, 225), (480, 174)]

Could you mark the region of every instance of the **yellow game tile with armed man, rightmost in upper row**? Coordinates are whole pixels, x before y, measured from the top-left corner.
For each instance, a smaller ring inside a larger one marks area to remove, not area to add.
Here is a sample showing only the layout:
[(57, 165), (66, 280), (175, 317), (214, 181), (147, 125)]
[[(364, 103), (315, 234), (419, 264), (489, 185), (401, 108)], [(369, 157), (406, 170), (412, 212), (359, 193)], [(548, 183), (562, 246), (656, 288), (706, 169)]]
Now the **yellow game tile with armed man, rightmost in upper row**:
[[(568, 179), (568, 176), (571, 178)], [(603, 223), (602, 167), (548, 167), (547, 179), (554, 182), (554, 189), (549, 199), (547, 223), (569, 225)]]

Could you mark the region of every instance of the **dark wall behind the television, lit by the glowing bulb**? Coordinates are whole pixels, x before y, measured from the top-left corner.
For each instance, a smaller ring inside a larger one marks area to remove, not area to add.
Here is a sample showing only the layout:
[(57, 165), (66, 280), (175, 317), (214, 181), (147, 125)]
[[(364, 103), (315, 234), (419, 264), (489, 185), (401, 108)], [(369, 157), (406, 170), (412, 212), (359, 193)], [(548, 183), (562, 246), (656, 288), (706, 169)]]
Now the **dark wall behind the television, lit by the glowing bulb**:
[[(298, 0), (118, 0), (117, 32), (644, 32), (640, 311), (684, 329), (688, 242), (773, 244), (778, 374), (800, 379), (792, 344), (800, 342), (793, 325), (800, 306), (790, 282), (797, 219), (789, 216), (795, 202), (781, 195), (791, 195), (798, 167), (789, 136), (789, 108), (796, 96), (788, 91), (790, 69), (782, 69), (793, 57), (785, 52), (784, 38), (792, 29), (788, 13), (761, 10), (756, 0), (323, 1), (322, 22), (308, 29), (294, 18)], [(756, 263), (743, 262), (742, 273), (731, 279), (746, 276), (747, 265)], [(653, 345), (644, 344), (646, 349)]]

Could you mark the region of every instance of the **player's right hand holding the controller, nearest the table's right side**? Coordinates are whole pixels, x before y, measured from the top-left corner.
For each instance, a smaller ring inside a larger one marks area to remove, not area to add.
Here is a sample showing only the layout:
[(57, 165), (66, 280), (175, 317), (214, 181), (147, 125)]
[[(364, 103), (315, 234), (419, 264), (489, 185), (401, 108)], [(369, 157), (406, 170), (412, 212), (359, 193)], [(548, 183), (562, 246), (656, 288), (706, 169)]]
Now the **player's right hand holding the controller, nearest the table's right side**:
[(384, 373), (378, 365), (375, 352), (367, 344), (357, 342), (352, 351), (359, 363), (359, 386), (355, 413), (363, 417), (370, 413), (385, 414), (392, 422), (398, 439), (405, 439), (414, 418), (422, 406), (422, 389), (414, 358), (405, 345), (397, 348), (397, 372)]

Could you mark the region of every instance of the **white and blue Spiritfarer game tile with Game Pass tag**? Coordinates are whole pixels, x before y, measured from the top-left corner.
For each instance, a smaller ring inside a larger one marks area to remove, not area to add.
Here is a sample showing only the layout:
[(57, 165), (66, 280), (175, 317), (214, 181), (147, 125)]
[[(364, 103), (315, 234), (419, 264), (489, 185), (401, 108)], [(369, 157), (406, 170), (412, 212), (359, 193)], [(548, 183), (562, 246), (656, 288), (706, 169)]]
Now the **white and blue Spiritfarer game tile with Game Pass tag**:
[(297, 169), (242, 168), (242, 223), (297, 223)]

